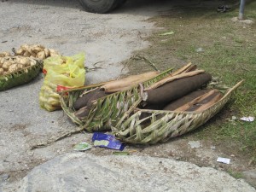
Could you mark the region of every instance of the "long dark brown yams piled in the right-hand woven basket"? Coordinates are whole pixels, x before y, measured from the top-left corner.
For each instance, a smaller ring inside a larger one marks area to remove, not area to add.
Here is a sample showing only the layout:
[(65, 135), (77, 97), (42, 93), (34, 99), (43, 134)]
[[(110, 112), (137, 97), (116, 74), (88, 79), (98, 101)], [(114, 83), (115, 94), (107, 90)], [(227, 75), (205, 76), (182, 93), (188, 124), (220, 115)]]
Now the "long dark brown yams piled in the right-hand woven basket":
[(143, 94), (143, 109), (177, 112), (200, 112), (223, 96), (219, 90), (205, 89), (212, 75), (197, 70), (190, 63), (147, 88)]

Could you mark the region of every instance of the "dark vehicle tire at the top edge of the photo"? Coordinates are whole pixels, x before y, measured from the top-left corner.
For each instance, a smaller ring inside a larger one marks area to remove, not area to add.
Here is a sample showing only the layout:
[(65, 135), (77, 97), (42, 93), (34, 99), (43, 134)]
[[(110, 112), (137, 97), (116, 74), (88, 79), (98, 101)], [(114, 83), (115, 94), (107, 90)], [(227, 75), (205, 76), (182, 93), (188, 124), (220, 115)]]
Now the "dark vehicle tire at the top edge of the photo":
[(105, 14), (119, 6), (124, 0), (79, 0), (83, 8), (91, 13)]

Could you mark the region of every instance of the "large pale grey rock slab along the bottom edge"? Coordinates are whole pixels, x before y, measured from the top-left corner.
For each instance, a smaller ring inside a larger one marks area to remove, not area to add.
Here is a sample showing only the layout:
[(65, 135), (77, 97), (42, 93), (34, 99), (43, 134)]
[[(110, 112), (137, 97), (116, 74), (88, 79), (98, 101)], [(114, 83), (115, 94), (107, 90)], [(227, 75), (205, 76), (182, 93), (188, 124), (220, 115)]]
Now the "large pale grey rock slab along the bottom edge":
[(61, 155), (32, 170), (18, 191), (255, 192), (243, 180), (191, 163), (147, 156)]

